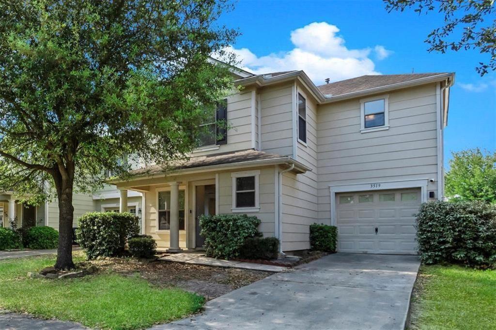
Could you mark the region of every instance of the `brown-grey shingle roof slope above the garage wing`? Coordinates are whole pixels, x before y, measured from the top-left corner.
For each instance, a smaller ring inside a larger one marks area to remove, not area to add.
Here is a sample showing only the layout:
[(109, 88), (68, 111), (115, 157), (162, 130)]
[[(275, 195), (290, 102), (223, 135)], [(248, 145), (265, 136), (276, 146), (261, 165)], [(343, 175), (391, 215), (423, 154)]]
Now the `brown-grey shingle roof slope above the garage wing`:
[(336, 81), (330, 84), (320, 85), (317, 86), (317, 88), (324, 95), (331, 94), (332, 96), (338, 96), (338, 95), (364, 91), (377, 87), (404, 83), (421, 78), (433, 77), (440, 74), (445, 74), (445, 73), (434, 72), (434, 73), (365, 75), (357, 78), (351, 78), (351, 79)]

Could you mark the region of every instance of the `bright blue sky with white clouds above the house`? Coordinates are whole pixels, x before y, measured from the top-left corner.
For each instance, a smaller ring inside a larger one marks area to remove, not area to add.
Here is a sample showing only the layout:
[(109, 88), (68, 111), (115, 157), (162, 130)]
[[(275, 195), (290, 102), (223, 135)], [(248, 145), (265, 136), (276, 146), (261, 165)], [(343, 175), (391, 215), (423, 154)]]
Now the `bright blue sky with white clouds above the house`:
[(303, 69), (320, 85), (371, 72), (456, 72), (447, 163), (453, 151), (495, 150), (496, 72), (480, 77), (475, 67), (487, 57), (477, 51), (428, 53), (424, 40), (442, 22), (437, 13), (388, 13), (378, 0), (240, 0), (221, 18), (242, 33), (233, 49), (257, 73)]

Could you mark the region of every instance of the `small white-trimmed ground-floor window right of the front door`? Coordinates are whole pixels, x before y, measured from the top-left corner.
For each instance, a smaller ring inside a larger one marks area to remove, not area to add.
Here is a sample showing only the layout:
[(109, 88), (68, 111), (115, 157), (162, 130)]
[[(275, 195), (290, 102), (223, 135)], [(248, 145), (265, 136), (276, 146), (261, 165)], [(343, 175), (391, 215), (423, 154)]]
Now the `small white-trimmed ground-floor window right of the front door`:
[(233, 179), (233, 211), (258, 211), (259, 170), (231, 173)]

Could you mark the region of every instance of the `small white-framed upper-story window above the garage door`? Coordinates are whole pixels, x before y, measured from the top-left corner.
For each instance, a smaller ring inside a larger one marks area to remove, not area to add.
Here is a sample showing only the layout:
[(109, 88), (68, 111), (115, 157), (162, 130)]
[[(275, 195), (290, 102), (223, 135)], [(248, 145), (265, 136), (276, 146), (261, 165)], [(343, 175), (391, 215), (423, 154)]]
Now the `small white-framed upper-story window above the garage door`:
[(387, 95), (364, 99), (360, 103), (362, 110), (362, 132), (389, 128)]

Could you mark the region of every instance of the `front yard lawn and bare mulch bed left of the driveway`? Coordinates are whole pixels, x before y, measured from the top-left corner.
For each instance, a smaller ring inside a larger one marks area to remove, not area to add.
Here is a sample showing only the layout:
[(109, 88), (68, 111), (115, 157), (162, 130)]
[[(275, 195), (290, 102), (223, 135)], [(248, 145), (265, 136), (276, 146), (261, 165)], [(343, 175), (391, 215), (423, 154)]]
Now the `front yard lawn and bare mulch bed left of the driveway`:
[[(76, 252), (74, 262), (83, 260)], [(54, 255), (0, 261), (0, 309), (91, 328), (142, 329), (198, 312), (205, 298), (193, 292), (211, 299), (268, 275), (115, 258), (96, 262), (98, 273), (82, 278), (27, 276), (54, 263)]]

